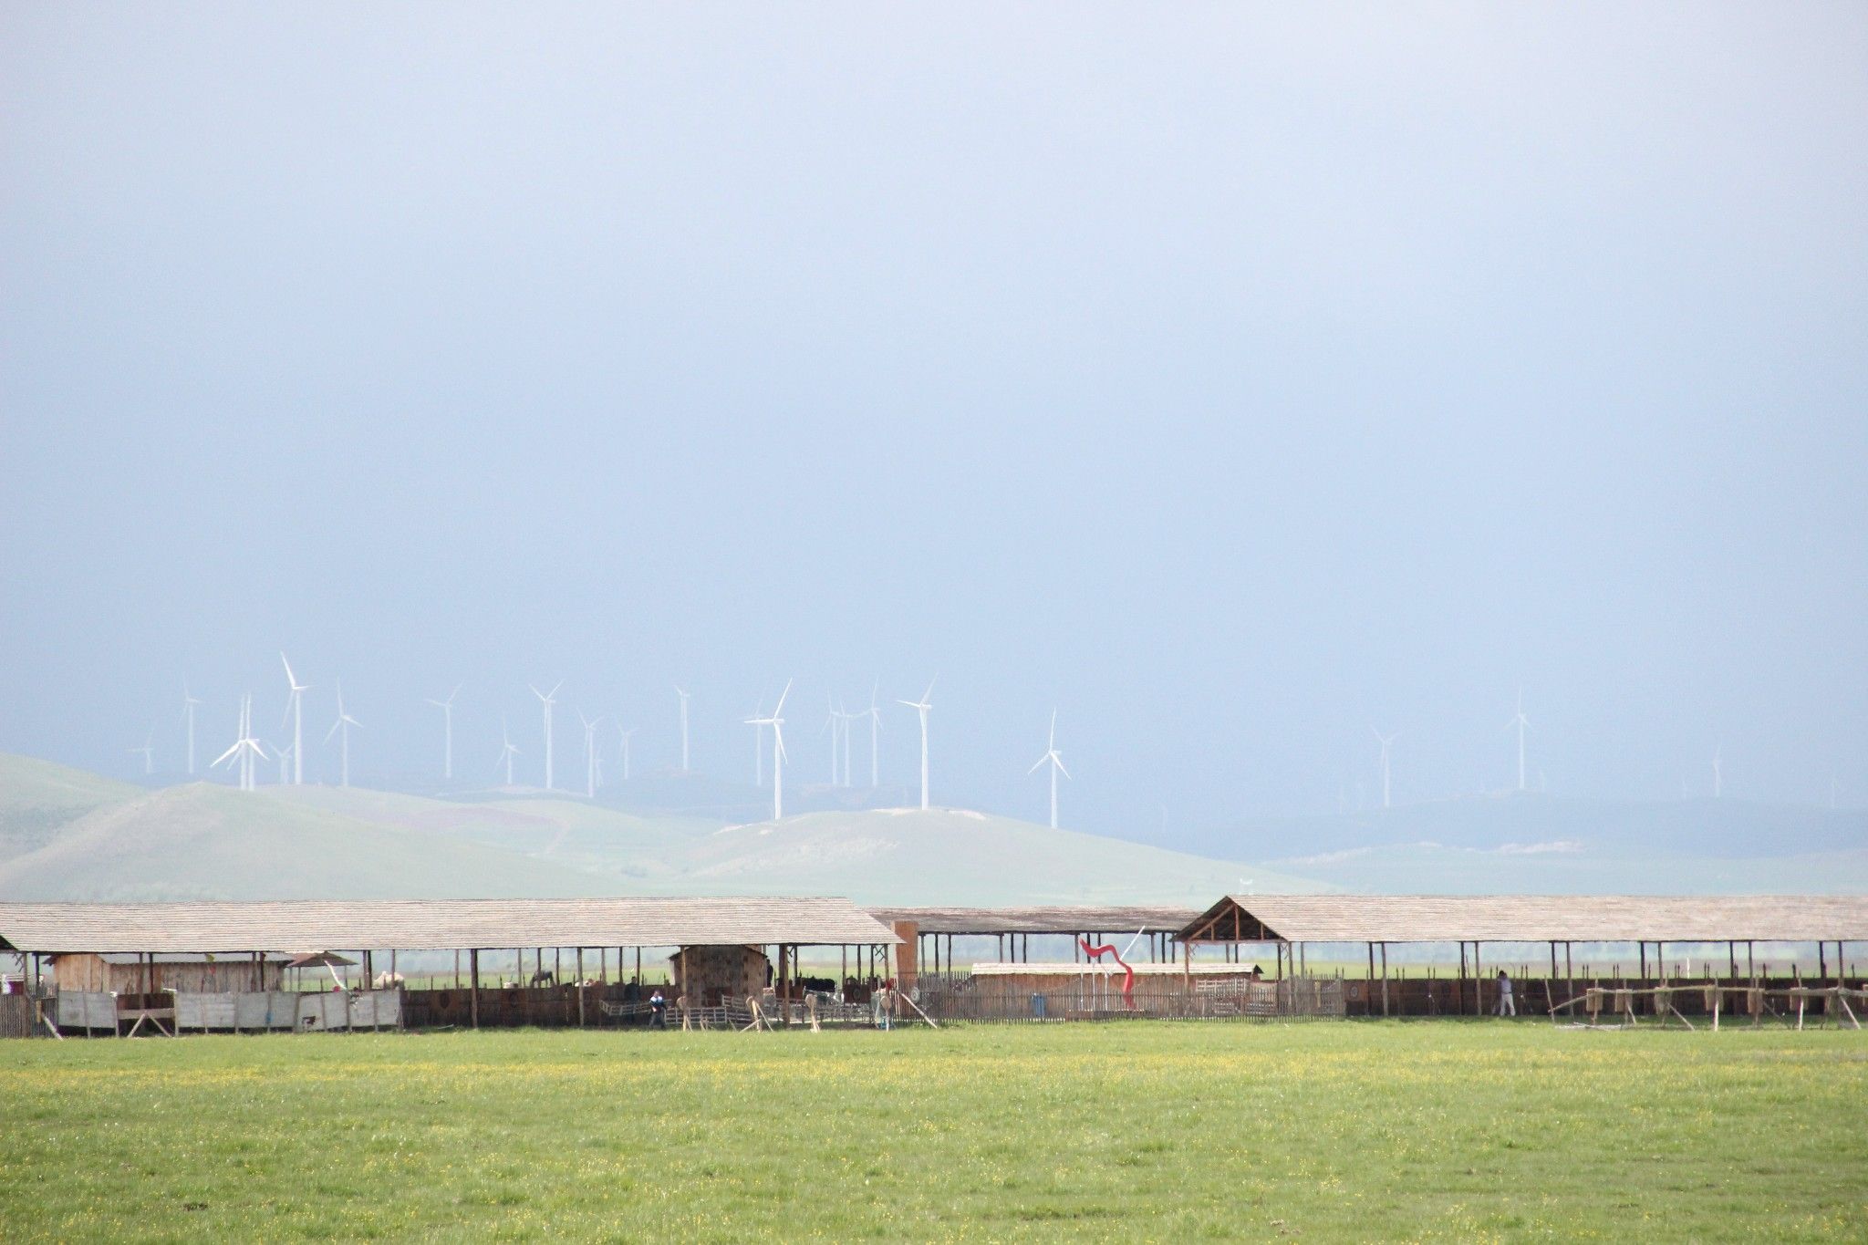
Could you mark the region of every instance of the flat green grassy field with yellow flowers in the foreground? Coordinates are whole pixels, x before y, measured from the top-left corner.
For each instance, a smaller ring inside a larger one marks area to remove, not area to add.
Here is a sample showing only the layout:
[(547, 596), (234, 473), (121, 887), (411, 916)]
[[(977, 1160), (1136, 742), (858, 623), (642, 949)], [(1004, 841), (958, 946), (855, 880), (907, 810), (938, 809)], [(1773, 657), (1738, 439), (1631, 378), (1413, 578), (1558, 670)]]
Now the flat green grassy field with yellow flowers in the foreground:
[(1868, 1034), (0, 1045), (0, 1239), (1868, 1238)]

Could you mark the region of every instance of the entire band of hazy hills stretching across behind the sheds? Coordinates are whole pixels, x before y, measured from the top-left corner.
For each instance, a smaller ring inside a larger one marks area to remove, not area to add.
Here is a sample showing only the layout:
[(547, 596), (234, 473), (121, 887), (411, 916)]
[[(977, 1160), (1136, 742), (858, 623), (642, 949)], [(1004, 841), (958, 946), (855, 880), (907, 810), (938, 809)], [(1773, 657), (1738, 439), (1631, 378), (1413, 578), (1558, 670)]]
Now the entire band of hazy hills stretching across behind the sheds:
[[(659, 795), (680, 786), (663, 782)], [(865, 795), (818, 791), (829, 804)], [(1263, 818), (1186, 834), (1188, 849), (1173, 851), (956, 808), (818, 808), (727, 825), (615, 806), (624, 797), (633, 790), (611, 788), (603, 801), (531, 790), (446, 799), (329, 786), (148, 791), (0, 756), (0, 898), (844, 894), (891, 905), (1199, 905), (1238, 888), (1868, 890), (1868, 814), (1730, 799), (1476, 797)]]

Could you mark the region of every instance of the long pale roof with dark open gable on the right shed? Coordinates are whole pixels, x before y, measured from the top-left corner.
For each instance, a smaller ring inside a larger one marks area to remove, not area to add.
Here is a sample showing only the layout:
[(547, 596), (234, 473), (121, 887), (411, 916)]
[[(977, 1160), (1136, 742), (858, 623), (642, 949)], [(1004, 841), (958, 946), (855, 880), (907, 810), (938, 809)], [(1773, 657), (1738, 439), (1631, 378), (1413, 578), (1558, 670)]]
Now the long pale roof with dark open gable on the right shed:
[(1237, 907), (1287, 943), (1819, 943), (1868, 939), (1868, 896), (1233, 894), (1181, 937)]

